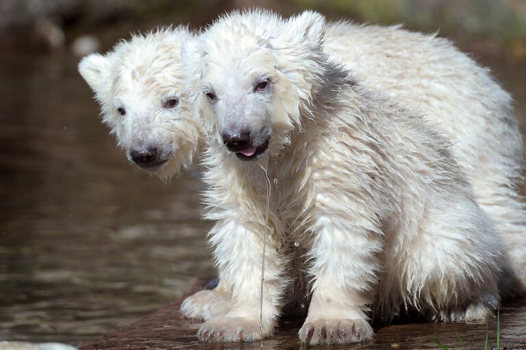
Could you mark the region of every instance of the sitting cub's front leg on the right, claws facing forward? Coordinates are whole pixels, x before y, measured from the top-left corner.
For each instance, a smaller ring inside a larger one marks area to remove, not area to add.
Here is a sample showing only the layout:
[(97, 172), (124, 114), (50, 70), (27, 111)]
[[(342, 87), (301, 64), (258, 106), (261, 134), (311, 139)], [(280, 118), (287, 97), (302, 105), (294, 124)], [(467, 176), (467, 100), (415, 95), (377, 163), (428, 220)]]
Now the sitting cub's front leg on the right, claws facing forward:
[(347, 221), (321, 215), (313, 227), (309, 272), (314, 281), (301, 342), (349, 344), (374, 335), (367, 314), (375, 297), (381, 234), (364, 213), (355, 214)]

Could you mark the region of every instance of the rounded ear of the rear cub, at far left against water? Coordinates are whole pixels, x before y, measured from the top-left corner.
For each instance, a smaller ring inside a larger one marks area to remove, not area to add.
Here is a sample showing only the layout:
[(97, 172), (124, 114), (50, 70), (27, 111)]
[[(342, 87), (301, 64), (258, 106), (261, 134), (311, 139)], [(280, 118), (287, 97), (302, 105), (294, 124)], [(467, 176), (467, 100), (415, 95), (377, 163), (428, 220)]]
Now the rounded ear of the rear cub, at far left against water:
[(97, 95), (99, 101), (108, 98), (112, 86), (111, 65), (108, 56), (92, 53), (79, 63), (79, 73)]

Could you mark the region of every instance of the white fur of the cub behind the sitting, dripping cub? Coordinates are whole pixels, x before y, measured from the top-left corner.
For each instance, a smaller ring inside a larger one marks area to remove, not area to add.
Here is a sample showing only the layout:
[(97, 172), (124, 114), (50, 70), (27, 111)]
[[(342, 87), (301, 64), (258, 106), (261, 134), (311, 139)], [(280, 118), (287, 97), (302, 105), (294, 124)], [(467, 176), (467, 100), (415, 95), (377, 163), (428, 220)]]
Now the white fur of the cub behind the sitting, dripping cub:
[[(169, 118), (168, 123), (150, 117), (162, 107), (164, 96), (178, 94), (186, 99), (178, 49), (189, 37), (188, 30), (181, 27), (134, 37), (107, 55), (88, 56), (79, 65), (101, 103), (103, 121), (116, 134), (119, 145), (127, 149), (134, 140), (155, 138), (168, 148), (177, 147), (174, 159), (158, 172), (163, 178), (191, 166), (201, 149), (202, 130), (186, 101), (182, 101), (185, 108), (173, 111), (177, 118)], [(451, 149), (466, 168), (477, 201), (497, 222), (503, 236), (507, 247), (504, 269), (508, 276), (521, 277), (524, 285), (525, 216), (516, 195), (522, 142), (511, 116), (509, 95), (486, 69), (449, 41), (400, 27), (331, 23), (326, 27), (325, 48), (345, 62), (368, 88), (387, 92), (410, 108), (425, 112), (426, 118), (454, 141)], [(173, 64), (155, 64), (168, 61)], [(135, 69), (141, 66), (151, 69)], [(132, 79), (134, 71), (142, 75), (140, 80)], [(151, 82), (155, 89), (147, 89)], [(123, 118), (115, 112), (115, 100), (121, 96), (129, 101), (125, 107), (131, 117)], [(205, 319), (223, 314), (229, 300), (224, 282), (216, 290), (188, 298), (183, 305), (185, 314)], [(508, 286), (504, 292), (518, 286), (514, 278), (505, 282)]]

